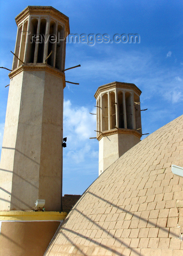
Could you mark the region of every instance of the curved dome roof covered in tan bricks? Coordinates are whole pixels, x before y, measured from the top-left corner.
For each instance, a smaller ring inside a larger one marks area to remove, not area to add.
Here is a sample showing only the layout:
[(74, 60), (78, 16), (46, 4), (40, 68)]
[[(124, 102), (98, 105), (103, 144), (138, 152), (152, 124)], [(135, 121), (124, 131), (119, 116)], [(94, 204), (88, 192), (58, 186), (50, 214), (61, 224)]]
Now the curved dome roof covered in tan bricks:
[(92, 183), (46, 255), (182, 255), (183, 178), (171, 172), (172, 164), (183, 166), (183, 116)]

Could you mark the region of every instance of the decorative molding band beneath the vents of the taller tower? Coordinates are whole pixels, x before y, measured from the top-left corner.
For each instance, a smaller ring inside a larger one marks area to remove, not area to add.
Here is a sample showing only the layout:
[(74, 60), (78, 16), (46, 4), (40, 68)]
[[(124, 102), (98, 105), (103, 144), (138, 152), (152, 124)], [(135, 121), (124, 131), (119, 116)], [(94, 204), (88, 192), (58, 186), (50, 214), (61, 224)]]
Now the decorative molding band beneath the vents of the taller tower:
[(52, 73), (53, 75), (59, 76), (60, 78), (62, 78), (63, 88), (65, 88), (65, 74), (63, 72), (61, 72), (59, 69), (51, 67), (50, 65), (44, 64), (44, 63), (22, 64), (18, 68), (11, 71), (11, 73), (9, 73), (9, 78), (11, 79), (11, 78), (13, 78), (13, 76), (16, 76), (20, 72), (27, 71), (27, 70), (29, 70), (29, 71), (47, 71), (47, 72)]

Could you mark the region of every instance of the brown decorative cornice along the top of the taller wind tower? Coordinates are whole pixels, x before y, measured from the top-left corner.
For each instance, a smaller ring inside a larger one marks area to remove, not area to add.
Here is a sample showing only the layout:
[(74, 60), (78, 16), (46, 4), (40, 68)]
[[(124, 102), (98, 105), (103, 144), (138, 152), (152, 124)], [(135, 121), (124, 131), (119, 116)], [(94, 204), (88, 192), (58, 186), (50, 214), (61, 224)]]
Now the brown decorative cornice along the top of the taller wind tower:
[(65, 30), (69, 30), (69, 18), (63, 13), (59, 12), (51, 6), (28, 6), (19, 15), (15, 17), (16, 24), (18, 25), (22, 20), (27, 18), (28, 15), (51, 15), (53, 18), (62, 21), (65, 24)]

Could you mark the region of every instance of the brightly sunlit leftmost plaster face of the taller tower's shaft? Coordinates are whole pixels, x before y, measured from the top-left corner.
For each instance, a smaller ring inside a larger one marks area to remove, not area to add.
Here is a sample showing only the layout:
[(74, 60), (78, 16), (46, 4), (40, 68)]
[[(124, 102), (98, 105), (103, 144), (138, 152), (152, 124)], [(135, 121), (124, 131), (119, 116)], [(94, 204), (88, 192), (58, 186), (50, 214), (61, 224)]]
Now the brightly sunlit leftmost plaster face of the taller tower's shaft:
[(0, 208), (10, 210), (23, 72), (10, 80), (0, 162)]

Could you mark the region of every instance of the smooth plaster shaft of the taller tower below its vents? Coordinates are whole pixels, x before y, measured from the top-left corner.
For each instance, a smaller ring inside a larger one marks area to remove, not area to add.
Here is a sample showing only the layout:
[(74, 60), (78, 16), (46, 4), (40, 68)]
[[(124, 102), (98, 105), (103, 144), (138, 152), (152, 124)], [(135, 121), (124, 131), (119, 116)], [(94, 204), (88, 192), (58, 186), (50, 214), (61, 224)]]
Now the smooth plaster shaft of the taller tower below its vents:
[(62, 79), (44, 70), (24, 70), (11, 79), (9, 95), (0, 210), (30, 210), (37, 199), (45, 199), (47, 211), (60, 211)]

